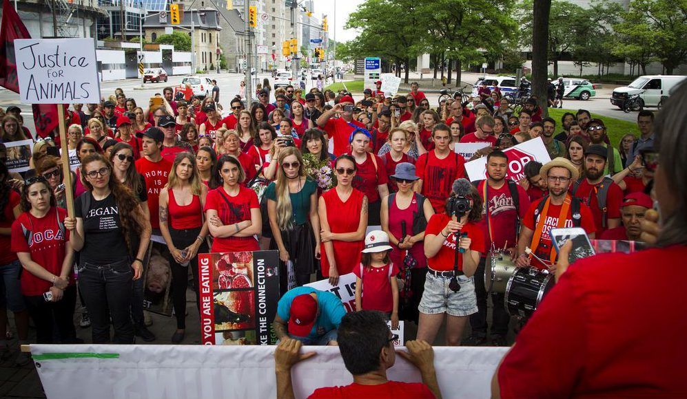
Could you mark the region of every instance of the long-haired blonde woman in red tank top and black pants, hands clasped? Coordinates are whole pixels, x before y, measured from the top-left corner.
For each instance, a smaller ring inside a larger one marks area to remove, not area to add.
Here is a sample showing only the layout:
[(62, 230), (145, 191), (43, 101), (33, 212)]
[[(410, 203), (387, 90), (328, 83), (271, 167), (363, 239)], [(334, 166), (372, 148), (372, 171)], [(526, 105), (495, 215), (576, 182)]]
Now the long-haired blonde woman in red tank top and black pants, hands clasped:
[(186, 329), (186, 290), (188, 269), (193, 273), (193, 289), (198, 296), (198, 252), (207, 252), (207, 223), (203, 208), (207, 186), (201, 182), (192, 153), (178, 153), (165, 189), (160, 192), (160, 231), (170, 249), (172, 302), (176, 314), (176, 332), (172, 343), (181, 343)]

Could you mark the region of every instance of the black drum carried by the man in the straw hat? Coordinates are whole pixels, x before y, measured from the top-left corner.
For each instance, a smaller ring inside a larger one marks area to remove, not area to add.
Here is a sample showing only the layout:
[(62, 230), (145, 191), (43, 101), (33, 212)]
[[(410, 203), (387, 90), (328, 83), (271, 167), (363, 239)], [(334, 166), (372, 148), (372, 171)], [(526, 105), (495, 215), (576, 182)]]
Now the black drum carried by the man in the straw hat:
[(506, 285), (506, 310), (511, 316), (532, 316), (554, 283), (553, 274), (535, 268), (517, 268)]

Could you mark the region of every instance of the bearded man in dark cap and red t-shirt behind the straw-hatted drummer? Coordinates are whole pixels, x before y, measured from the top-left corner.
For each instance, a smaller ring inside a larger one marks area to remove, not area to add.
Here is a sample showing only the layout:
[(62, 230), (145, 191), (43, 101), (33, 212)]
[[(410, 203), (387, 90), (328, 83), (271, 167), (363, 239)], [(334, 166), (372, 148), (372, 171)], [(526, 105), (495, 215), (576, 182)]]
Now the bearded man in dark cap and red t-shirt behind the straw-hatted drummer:
[[(591, 145), (584, 152), (584, 179), (573, 185), (572, 194), (587, 204), (594, 215), (597, 235), (608, 228), (620, 226), (620, 205), (623, 200), (622, 189), (611, 177), (604, 176), (606, 167), (606, 147)], [(601, 207), (603, 197), (606, 206)]]

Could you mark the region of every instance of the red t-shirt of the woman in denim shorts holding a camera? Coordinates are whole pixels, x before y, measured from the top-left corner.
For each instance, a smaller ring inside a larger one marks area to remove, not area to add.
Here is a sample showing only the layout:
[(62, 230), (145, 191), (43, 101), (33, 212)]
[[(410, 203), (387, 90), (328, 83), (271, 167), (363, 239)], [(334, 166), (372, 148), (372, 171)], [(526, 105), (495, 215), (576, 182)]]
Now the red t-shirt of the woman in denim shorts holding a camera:
[[(447, 223), (451, 218), (449, 215), (444, 213), (435, 213), (427, 222), (427, 229), (424, 230), (425, 235), (442, 235), (441, 230), (446, 227)], [(480, 230), (480, 227), (473, 222), (467, 222), (461, 233), (467, 233), (468, 237), (472, 240), (470, 244), (470, 249), (484, 254), (486, 252), (486, 246), (484, 246), (484, 233)], [(427, 258), (427, 265), (433, 270), (438, 270), (440, 272), (453, 270), (453, 261), (455, 259), (455, 234), (449, 234), (449, 237), (444, 240), (439, 252), (431, 258)], [(458, 270), (463, 270), (463, 257), (462, 254), (458, 254)]]

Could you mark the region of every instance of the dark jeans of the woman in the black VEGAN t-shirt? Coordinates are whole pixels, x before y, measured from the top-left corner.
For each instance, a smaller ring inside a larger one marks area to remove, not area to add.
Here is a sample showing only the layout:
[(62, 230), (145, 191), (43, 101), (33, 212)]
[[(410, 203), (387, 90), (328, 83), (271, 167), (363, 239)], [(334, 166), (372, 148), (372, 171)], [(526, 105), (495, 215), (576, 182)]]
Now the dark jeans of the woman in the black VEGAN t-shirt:
[[(129, 314), (134, 270), (128, 259), (97, 265), (81, 259), (81, 293), (91, 316), (93, 343), (110, 342), (110, 317), (114, 325), (113, 343), (134, 343), (134, 326)], [(109, 312), (108, 312), (109, 311)]]

